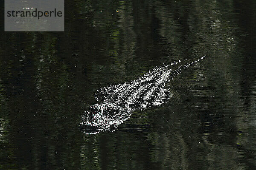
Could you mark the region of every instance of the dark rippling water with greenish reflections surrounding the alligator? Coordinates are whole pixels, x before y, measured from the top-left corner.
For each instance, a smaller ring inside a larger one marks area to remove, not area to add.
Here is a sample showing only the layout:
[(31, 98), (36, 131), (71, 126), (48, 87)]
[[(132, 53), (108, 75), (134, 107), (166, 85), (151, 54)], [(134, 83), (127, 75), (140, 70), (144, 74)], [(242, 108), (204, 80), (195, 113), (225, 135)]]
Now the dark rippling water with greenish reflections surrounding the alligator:
[[(3, 21), (1, 170), (256, 169), (256, 1), (65, 0), (65, 32)], [(168, 103), (115, 132), (77, 128), (97, 89), (203, 55)]]

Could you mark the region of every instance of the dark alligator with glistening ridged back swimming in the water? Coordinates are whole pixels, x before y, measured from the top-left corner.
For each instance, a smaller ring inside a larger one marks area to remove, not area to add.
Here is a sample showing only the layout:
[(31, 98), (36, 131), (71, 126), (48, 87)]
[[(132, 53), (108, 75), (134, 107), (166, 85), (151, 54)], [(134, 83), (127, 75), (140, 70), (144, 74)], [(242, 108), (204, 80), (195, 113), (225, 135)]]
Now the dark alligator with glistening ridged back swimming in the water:
[(100, 104), (90, 106), (89, 111), (82, 114), (79, 128), (87, 134), (96, 134), (102, 130), (114, 131), (131, 117), (133, 111), (162, 105), (172, 97), (169, 89), (164, 88), (166, 83), (180, 74), (183, 68), (203, 58), (180, 66), (180, 60), (170, 64), (167, 62), (132, 82), (101, 88), (95, 93)]

